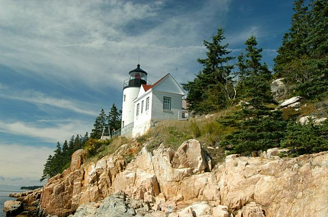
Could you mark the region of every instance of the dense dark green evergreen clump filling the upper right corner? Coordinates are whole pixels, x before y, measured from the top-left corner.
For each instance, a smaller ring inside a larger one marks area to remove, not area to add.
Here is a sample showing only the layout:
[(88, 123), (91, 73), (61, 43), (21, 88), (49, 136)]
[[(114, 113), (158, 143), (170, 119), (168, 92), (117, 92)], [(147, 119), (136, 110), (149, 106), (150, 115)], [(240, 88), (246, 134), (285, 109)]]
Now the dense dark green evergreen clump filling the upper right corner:
[(275, 58), (276, 77), (285, 77), (294, 94), (310, 100), (328, 96), (328, 4), (295, 1), (290, 32)]

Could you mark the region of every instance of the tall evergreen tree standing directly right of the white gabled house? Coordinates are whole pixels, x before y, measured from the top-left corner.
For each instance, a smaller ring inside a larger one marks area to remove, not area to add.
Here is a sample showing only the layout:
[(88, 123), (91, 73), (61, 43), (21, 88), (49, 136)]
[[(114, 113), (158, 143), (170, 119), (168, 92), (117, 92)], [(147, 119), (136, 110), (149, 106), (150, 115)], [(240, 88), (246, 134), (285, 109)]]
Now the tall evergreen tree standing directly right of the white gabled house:
[(223, 39), (223, 30), (218, 28), (211, 42), (203, 41), (208, 50), (207, 58), (198, 58), (197, 61), (204, 68), (196, 75), (194, 81), (182, 84), (183, 88), (188, 91), (188, 109), (196, 113), (222, 109), (234, 100), (233, 82), (230, 77), (234, 66), (229, 64), (229, 61), (234, 58), (228, 56), (230, 53), (227, 49), (228, 44), (221, 44)]

